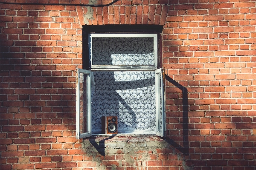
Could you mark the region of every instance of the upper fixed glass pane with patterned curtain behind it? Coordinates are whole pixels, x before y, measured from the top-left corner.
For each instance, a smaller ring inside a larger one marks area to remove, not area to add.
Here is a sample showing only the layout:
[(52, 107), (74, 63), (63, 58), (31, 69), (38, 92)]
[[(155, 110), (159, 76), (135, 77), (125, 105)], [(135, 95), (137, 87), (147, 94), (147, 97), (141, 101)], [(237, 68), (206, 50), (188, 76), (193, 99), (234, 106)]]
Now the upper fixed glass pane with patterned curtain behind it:
[(93, 65), (154, 65), (154, 37), (93, 37)]

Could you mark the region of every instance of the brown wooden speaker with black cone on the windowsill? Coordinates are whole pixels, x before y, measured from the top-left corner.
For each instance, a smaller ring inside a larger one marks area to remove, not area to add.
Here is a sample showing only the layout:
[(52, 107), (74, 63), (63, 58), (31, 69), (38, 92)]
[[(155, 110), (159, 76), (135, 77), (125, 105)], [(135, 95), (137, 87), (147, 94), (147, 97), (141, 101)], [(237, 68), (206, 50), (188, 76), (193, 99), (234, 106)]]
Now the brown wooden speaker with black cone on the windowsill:
[(117, 134), (117, 116), (102, 116), (102, 133)]

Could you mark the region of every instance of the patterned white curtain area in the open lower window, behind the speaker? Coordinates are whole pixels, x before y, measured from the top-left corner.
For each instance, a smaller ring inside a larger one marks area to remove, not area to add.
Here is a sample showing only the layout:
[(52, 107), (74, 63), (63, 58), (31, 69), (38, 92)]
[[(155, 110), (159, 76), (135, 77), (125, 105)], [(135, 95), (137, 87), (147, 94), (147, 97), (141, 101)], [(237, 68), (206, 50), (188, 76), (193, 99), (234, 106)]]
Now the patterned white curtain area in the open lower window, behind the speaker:
[(154, 72), (92, 72), (92, 133), (101, 116), (118, 117), (118, 133), (155, 131)]

